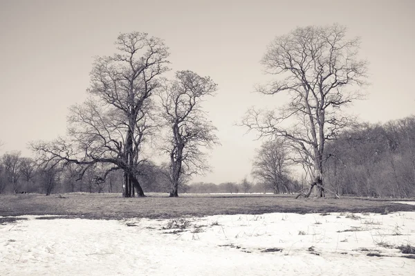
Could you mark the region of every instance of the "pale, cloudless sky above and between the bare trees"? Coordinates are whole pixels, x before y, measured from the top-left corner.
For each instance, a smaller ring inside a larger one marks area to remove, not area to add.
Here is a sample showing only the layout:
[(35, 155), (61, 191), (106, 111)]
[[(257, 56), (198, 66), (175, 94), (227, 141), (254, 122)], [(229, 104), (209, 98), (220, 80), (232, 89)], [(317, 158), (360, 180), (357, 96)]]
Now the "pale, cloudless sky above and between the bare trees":
[(212, 172), (194, 181), (249, 176), (261, 141), (237, 127), (249, 107), (275, 107), (284, 95), (262, 96), (259, 63), (266, 46), (297, 26), (333, 23), (361, 37), (371, 83), (350, 113), (367, 122), (414, 114), (415, 1), (22, 1), (0, 0), (0, 154), (66, 134), (68, 107), (82, 103), (94, 56), (115, 53), (119, 33), (139, 31), (169, 46), (173, 71), (209, 75), (219, 85), (204, 103), (221, 146)]

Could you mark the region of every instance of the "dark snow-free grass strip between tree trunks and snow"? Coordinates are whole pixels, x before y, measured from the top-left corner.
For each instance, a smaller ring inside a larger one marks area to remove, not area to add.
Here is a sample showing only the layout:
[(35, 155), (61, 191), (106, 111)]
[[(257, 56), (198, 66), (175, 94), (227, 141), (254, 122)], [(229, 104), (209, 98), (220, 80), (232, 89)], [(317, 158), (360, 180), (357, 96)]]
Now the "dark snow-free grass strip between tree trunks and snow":
[(294, 199), (273, 194), (151, 194), (145, 198), (123, 199), (120, 194), (70, 193), (44, 196), (17, 194), (0, 196), (0, 215), (54, 214), (87, 219), (203, 217), (215, 214), (264, 214), (292, 212), (389, 212), (415, 211), (414, 205), (385, 199)]

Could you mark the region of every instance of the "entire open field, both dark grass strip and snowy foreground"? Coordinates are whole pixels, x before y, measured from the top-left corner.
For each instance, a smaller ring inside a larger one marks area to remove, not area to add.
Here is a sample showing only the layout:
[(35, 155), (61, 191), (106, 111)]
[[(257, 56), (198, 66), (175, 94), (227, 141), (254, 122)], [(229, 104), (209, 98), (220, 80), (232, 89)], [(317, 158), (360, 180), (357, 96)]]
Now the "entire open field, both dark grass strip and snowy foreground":
[(412, 275), (414, 246), (385, 199), (0, 196), (0, 275)]

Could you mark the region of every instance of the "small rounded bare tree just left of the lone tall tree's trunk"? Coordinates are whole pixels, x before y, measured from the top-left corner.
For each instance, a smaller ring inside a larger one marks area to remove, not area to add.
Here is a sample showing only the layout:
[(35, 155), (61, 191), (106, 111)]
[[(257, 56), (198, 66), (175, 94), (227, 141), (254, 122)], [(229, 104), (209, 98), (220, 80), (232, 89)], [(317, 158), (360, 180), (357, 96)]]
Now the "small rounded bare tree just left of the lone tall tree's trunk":
[(264, 142), (252, 163), (252, 176), (266, 183), (275, 194), (291, 192), (288, 183), (288, 149), (281, 139)]

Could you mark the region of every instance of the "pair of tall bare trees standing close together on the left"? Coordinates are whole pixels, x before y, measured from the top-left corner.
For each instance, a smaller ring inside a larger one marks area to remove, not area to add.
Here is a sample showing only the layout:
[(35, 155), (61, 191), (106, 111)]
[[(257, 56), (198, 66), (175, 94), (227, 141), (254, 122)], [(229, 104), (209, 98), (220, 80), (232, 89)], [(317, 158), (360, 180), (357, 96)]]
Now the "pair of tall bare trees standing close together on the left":
[(98, 181), (121, 171), (123, 196), (145, 196), (140, 182), (149, 163), (145, 149), (165, 136), (159, 146), (169, 154), (165, 176), (170, 195), (178, 196), (186, 176), (207, 169), (200, 147), (218, 143), (200, 107), (216, 84), (192, 71), (178, 71), (174, 80), (163, 77), (169, 52), (162, 39), (133, 32), (119, 35), (115, 44), (116, 54), (95, 59), (90, 98), (71, 107), (68, 136), (31, 147), (45, 167), (82, 167), (81, 178), (97, 166)]

